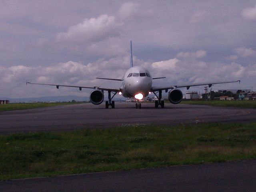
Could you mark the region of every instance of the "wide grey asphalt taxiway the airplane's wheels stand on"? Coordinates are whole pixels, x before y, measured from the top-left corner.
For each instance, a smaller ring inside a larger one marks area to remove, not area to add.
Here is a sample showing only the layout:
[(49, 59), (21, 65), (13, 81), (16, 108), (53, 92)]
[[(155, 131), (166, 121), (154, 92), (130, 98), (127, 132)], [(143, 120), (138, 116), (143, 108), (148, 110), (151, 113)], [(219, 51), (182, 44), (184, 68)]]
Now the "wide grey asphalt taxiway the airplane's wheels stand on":
[(133, 124), (196, 124), (202, 122), (255, 122), (256, 110), (186, 104), (116, 103), (115, 109), (105, 105), (74, 104), (28, 110), (0, 112), (0, 133), (105, 128)]

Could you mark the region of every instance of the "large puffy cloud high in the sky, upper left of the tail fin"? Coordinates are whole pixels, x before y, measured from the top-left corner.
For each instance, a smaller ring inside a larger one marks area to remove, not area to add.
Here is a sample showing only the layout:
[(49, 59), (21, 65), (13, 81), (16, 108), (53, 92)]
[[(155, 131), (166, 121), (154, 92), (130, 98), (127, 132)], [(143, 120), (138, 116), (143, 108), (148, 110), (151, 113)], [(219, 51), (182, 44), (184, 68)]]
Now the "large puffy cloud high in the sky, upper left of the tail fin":
[(60, 32), (56, 36), (57, 42), (98, 42), (109, 37), (119, 36), (120, 23), (114, 16), (106, 14), (98, 18), (85, 19), (84, 22), (68, 28), (67, 32)]

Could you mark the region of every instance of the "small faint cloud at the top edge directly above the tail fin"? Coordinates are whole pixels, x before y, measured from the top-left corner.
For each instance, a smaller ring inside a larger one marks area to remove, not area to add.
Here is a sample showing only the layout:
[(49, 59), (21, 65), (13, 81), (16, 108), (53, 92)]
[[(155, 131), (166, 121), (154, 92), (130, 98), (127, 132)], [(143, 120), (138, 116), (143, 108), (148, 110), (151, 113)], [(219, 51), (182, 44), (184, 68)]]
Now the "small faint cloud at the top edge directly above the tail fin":
[(118, 10), (118, 17), (121, 19), (127, 19), (131, 16), (136, 16), (139, 12), (139, 4), (134, 2), (126, 2)]

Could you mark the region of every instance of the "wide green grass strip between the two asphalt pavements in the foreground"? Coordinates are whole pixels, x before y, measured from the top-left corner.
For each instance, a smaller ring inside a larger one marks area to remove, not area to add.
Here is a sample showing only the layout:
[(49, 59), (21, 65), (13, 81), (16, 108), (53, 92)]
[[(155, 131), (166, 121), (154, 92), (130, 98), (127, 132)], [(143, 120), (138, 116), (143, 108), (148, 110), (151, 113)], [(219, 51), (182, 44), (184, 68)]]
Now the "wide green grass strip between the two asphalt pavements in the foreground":
[(0, 180), (256, 158), (256, 123), (0, 135)]

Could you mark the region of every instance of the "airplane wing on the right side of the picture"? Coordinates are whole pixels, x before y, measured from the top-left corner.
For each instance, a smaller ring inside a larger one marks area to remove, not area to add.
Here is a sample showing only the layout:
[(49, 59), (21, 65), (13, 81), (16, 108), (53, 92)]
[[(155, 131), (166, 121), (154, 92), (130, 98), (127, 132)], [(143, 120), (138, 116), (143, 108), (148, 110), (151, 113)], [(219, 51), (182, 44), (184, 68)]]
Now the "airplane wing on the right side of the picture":
[(186, 87), (188, 90), (192, 86), (208, 85), (209, 87), (211, 87), (213, 84), (234, 83), (234, 82), (240, 83), (240, 80), (224, 81), (224, 82), (210, 82), (210, 83), (181, 84), (181, 85), (171, 85), (171, 86), (152, 86), (151, 91), (168, 90), (168, 89), (181, 88), (181, 87)]

